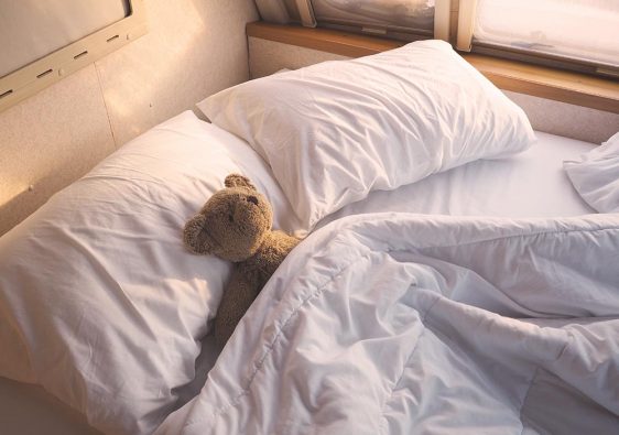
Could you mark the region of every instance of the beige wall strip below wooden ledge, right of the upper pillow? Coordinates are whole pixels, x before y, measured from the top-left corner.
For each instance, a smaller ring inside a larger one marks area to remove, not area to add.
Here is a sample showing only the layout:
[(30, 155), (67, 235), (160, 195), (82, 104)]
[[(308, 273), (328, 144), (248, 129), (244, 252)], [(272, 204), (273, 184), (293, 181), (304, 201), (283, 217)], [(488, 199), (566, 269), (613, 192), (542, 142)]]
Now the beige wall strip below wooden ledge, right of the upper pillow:
[(539, 131), (593, 143), (601, 143), (619, 131), (617, 113), (509, 90), (504, 94), (522, 107)]

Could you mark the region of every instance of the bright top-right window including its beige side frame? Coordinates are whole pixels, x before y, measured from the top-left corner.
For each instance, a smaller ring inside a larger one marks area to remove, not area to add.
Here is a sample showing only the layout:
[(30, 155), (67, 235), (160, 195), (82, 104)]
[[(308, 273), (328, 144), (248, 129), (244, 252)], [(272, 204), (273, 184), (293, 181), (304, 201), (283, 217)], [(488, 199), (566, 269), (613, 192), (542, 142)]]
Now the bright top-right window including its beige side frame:
[(619, 75), (619, 1), (461, 0), (458, 48)]

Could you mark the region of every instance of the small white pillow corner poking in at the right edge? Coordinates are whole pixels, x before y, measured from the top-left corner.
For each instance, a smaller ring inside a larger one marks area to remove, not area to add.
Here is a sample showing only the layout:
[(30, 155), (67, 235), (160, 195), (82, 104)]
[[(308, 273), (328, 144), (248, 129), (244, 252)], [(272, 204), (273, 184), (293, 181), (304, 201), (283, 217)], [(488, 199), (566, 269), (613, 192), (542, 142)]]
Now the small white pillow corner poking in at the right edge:
[(580, 197), (599, 213), (619, 213), (619, 133), (563, 167)]

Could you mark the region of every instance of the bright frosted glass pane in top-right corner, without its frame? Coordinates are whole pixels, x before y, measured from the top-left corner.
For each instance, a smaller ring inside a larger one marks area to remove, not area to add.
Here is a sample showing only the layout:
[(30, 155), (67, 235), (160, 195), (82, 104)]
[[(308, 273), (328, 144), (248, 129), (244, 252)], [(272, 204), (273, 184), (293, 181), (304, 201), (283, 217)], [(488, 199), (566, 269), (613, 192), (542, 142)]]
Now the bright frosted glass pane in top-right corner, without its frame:
[(478, 0), (473, 39), (619, 67), (619, 0)]

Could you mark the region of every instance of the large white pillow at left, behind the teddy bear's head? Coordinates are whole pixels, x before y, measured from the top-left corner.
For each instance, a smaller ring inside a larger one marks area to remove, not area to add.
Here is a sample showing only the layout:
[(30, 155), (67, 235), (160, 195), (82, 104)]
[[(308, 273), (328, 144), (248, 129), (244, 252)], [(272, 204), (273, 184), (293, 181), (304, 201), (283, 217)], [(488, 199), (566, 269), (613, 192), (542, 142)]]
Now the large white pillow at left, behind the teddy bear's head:
[(290, 213), (250, 146), (185, 112), (0, 238), (0, 376), (105, 433), (154, 432), (194, 379), (230, 271), (184, 249), (183, 226), (231, 172), (267, 188), (275, 220)]

